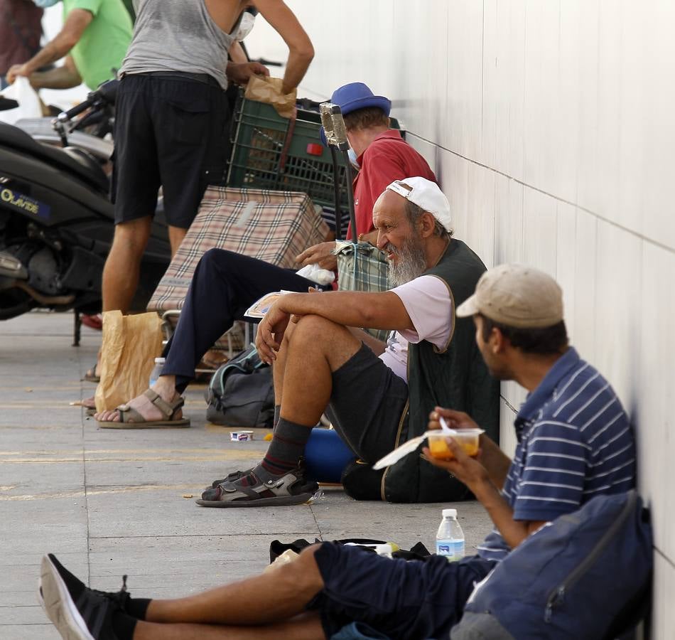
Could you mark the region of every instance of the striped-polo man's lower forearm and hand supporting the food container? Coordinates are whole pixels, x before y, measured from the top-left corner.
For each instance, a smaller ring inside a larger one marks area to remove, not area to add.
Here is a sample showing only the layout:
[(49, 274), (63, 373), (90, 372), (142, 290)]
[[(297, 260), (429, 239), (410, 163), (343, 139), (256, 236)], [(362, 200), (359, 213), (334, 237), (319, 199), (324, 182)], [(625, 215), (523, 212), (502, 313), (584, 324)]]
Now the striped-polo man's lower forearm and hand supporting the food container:
[(485, 466), (468, 457), (462, 447), (453, 439), (448, 439), (448, 447), (455, 456), (454, 460), (438, 460), (424, 447), (423, 454), (434, 466), (446, 469), (455, 478), (463, 482), (485, 507), (488, 515), (502, 534), (510, 548), (515, 549), (531, 533), (539, 529), (545, 521), (519, 521), (513, 519), (513, 509), (509, 506), (497, 487), (492, 484)]

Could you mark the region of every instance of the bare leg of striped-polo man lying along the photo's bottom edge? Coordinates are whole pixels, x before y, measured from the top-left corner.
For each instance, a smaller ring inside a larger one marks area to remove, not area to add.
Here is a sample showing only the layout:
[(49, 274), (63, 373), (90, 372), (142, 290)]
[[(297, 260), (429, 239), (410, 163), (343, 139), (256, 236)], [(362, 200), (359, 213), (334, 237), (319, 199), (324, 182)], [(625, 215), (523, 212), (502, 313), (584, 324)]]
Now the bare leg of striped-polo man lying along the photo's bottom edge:
[[(261, 604), (264, 607), (264, 604)], [(154, 624), (139, 622), (134, 640), (324, 640), (318, 614), (304, 614), (265, 626), (212, 624)]]

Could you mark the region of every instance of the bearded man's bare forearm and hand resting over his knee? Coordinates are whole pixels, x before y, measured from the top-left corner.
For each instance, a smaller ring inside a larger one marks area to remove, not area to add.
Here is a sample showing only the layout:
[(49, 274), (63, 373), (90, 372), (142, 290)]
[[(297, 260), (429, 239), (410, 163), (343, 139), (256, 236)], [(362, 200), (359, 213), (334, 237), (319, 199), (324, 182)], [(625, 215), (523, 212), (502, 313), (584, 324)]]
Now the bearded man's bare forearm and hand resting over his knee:
[(321, 294), (286, 294), (272, 304), (258, 325), (256, 347), (266, 363), (276, 359), (291, 316), (322, 316), (345, 326), (372, 329), (414, 329), (401, 299), (390, 291), (333, 291)]

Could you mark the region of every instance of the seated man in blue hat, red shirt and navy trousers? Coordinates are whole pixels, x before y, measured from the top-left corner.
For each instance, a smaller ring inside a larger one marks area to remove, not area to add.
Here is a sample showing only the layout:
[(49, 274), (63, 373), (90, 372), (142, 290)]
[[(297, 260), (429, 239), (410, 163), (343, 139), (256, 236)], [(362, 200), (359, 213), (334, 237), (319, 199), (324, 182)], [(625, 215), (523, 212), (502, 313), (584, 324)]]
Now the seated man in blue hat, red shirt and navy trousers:
[[(372, 208), (387, 185), (406, 176), (422, 176), (434, 182), (436, 177), (400, 132), (389, 129), (392, 102), (387, 97), (374, 95), (362, 82), (350, 82), (336, 89), (331, 101), (342, 108), (350, 151), (355, 166), (360, 167), (352, 184), (357, 235), (360, 240), (374, 243), (377, 232), (372, 232)], [(347, 238), (351, 237), (350, 231)], [(301, 252), (296, 263), (298, 268), (319, 265), (335, 270), (338, 259), (334, 251), (335, 240), (320, 242)], [(144, 422), (171, 426), (183, 420), (177, 404), (180, 393), (193, 379), (200, 358), (234, 321), (242, 319), (244, 311), (264, 294), (279, 290), (306, 292), (313, 286), (313, 282), (292, 270), (232, 251), (208, 250), (195, 270), (180, 321), (163, 353), (166, 363), (162, 375), (148, 390), (150, 393), (146, 391), (129, 400), (124, 405), (129, 407), (127, 410), (97, 414), (99, 425), (125, 428), (132, 422)]]

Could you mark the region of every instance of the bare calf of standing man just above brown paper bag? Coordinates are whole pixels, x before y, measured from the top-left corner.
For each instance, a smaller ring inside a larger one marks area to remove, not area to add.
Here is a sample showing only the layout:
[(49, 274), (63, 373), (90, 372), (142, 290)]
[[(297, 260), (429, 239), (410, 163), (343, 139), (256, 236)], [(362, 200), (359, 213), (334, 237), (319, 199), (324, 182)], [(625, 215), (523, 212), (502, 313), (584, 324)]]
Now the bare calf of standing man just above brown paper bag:
[(112, 247), (103, 267), (103, 311), (129, 311), (141, 272), (141, 257), (150, 237), (152, 219), (138, 218), (115, 227)]

